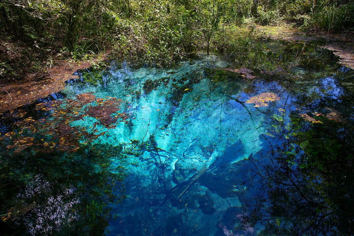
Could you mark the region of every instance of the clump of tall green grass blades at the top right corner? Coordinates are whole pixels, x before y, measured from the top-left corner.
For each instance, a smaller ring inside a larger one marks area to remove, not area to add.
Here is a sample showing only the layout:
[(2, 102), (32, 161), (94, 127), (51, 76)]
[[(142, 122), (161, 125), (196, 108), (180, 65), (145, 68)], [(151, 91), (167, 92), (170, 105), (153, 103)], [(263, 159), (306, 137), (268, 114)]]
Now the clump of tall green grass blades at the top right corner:
[(312, 25), (319, 30), (337, 33), (354, 27), (354, 5), (320, 6), (312, 17)]

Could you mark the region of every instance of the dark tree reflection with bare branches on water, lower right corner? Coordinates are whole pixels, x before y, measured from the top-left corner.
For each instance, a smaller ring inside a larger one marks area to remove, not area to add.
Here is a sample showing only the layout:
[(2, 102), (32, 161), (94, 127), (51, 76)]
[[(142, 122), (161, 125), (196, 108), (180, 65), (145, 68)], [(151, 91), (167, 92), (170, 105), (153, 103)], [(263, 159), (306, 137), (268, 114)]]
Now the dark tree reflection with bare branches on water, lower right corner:
[(269, 149), (240, 163), (241, 227), (262, 224), (259, 235), (353, 235), (353, 129), (319, 120), (277, 123), (279, 135), (264, 137)]

